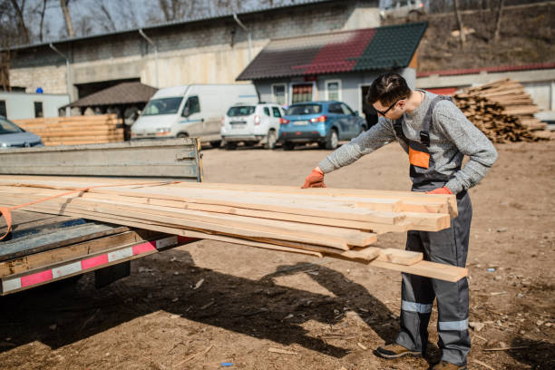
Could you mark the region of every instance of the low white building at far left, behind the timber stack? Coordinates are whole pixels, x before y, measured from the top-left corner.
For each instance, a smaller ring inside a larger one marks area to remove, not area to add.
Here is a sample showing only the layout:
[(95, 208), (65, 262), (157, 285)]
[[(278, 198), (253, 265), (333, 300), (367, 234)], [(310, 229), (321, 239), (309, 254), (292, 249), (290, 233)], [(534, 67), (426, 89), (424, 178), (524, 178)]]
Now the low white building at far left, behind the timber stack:
[(34, 118), (34, 102), (43, 102), (44, 117), (58, 117), (58, 110), (69, 104), (68, 95), (43, 93), (4, 93), (0, 101), (5, 102), (5, 111), (10, 120)]

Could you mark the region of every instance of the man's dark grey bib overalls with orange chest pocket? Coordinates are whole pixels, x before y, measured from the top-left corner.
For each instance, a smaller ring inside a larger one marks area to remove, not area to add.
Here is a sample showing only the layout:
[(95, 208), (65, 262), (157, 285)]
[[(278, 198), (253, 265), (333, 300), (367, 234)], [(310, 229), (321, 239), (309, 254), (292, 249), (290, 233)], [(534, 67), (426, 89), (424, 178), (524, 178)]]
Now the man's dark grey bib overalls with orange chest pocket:
[[(454, 176), (444, 175), (435, 170), (428, 147), (430, 126), (435, 104), (443, 99), (437, 96), (425, 114), (420, 141), (411, 141), (404, 136), (403, 118), (394, 122), (395, 135), (409, 148), (411, 162), (410, 176), (413, 191), (429, 191), (442, 188)], [(472, 219), (472, 204), (466, 190), (457, 197), (458, 217), (451, 220), (451, 227), (437, 232), (410, 230), (407, 233), (406, 250), (424, 253), (428, 261), (464, 267), (468, 253), (468, 241)], [(466, 365), (466, 356), (471, 341), (468, 333), (468, 281), (466, 277), (456, 283), (412, 274), (403, 274), (401, 307), (401, 332), (395, 342), (425, 355), (428, 343), (428, 322), (437, 298), (439, 346), (442, 360)]]

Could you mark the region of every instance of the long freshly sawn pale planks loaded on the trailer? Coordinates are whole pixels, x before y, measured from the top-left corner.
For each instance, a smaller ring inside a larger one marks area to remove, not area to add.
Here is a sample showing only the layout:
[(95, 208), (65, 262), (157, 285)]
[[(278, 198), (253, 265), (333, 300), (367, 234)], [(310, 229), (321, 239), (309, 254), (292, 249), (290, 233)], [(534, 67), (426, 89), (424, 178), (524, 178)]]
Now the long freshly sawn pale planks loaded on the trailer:
[(450, 281), (466, 275), (465, 268), (424, 261), (422, 253), (375, 246), (377, 236), (385, 232), (449, 228), (457, 214), (453, 195), (0, 176), (1, 207), (53, 196), (58, 197), (24, 209), (183, 237), (344, 258)]

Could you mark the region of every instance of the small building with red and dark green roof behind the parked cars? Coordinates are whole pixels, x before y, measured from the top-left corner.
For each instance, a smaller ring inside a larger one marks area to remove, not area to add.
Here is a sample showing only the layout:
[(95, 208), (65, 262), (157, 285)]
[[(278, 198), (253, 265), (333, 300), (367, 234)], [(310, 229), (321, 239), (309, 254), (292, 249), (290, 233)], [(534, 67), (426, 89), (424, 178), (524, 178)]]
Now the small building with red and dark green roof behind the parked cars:
[(426, 26), (395, 24), (274, 39), (238, 80), (253, 81), (265, 102), (338, 100), (376, 122), (364, 99), (368, 87), (378, 74), (395, 71), (414, 88), (416, 49)]

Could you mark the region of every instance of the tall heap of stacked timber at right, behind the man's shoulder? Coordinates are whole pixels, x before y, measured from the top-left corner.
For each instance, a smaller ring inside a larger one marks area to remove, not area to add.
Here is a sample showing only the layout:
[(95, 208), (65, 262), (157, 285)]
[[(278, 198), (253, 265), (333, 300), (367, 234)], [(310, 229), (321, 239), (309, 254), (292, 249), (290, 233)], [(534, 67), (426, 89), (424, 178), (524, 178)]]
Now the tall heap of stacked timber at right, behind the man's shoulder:
[(539, 141), (547, 125), (534, 117), (538, 106), (521, 83), (504, 79), (455, 93), (464, 115), (491, 141)]

